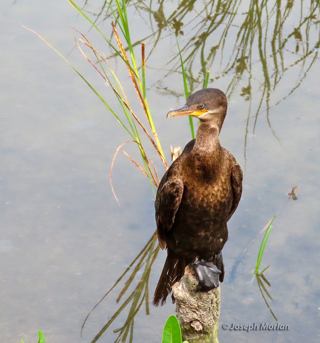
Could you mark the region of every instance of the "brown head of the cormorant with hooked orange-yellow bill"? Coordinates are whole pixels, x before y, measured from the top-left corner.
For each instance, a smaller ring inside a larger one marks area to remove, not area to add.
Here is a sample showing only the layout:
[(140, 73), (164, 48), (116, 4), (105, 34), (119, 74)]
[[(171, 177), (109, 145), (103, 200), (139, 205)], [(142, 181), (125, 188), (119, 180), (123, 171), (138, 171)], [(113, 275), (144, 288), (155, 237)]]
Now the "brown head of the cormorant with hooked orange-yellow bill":
[(204, 88), (192, 93), (186, 104), (167, 114), (167, 119), (177, 116), (189, 115), (199, 118), (201, 122), (208, 122), (221, 130), (223, 120), (227, 113), (227, 97), (217, 88)]

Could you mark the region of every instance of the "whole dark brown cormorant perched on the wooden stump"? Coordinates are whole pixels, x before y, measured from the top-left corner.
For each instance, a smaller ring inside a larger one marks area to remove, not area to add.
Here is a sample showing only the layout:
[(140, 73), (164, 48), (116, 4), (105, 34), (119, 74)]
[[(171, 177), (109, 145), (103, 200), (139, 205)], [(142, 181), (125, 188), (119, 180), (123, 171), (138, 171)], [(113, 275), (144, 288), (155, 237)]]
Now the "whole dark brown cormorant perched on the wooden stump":
[(154, 294), (156, 306), (164, 304), (171, 285), (181, 279), (189, 263), (193, 263), (200, 291), (223, 281), (220, 252), (228, 239), (227, 222), (242, 192), (241, 168), (219, 143), (226, 113), (225, 94), (205, 88), (191, 94), (184, 107), (167, 115), (192, 115), (200, 119), (200, 125), (196, 139), (171, 164), (157, 191), (158, 240), (168, 255)]

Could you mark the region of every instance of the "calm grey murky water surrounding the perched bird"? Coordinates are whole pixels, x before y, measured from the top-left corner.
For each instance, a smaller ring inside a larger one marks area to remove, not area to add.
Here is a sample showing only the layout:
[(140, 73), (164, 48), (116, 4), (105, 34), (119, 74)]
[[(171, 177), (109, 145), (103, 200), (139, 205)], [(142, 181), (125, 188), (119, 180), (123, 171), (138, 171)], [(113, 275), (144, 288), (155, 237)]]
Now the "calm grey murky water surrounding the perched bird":
[[(226, 279), (221, 285), (220, 342), (319, 340), (319, 3), (196, 1), (130, 4), (132, 40), (146, 44), (147, 93), (155, 126), (169, 161), (169, 145), (190, 140), (188, 121), (166, 121), (184, 104), (183, 84), (172, 32), (178, 34), (192, 90), (225, 91), (228, 114), (220, 142), (244, 171), (242, 200), (223, 249)], [(107, 37), (103, 1), (84, 5)], [(318, 8), (317, 8), (318, 6)], [(36, 341), (41, 329), (51, 342), (91, 342), (142, 277), (116, 303), (126, 276), (97, 306), (155, 230), (154, 196), (148, 180), (117, 147), (129, 140), (79, 76), (39, 37), (59, 49), (116, 108), (110, 87), (75, 47), (75, 25), (99, 51), (111, 51), (66, 1), (1, 3), (1, 326), (0, 341)], [(67, 25), (67, 26), (64, 26)], [(208, 32), (208, 35), (204, 33)], [(221, 38), (222, 37), (222, 38)], [(259, 44), (259, 42), (261, 44)], [(139, 45), (136, 47), (140, 53)], [(150, 54), (150, 55), (149, 55)], [(117, 75), (130, 80), (119, 61)], [(179, 95), (179, 96), (178, 96)], [(138, 105), (133, 103), (138, 110)], [(140, 115), (140, 114), (139, 114)], [(124, 148), (133, 157), (133, 143)], [(164, 168), (152, 156), (158, 173)], [(297, 200), (287, 200), (294, 186)], [(242, 251), (278, 214), (261, 262), (270, 264), (264, 293), (278, 323), (289, 330), (223, 330), (227, 323), (276, 324), (257, 282), (248, 287), (262, 235)], [(160, 251), (149, 278), (151, 299), (165, 260)], [(132, 269), (132, 268), (131, 268)], [(235, 270), (235, 272), (231, 272)], [(130, 305), (128, 305), (130, 306)], [(145, 305), (135, 316), (133, 342), (160, 342), (165, 320), (175, 311)], [(114, 342), (129, 310), (125, 308), (98, 342)], [(127, 339), (129, 342), (129, 336)]]

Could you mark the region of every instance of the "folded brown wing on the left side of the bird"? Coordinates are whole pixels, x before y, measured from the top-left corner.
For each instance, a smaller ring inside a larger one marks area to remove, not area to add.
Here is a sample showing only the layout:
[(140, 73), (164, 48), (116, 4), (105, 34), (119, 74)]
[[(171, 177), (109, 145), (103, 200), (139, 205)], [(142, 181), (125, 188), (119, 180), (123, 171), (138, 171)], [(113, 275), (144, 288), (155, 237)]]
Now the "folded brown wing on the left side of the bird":
[(175, 221), (183, 193), (183, 182), (179, 178), (163, 178), (155, 200), (156, 223), (159, 245), (167, 246), (166, 233)]

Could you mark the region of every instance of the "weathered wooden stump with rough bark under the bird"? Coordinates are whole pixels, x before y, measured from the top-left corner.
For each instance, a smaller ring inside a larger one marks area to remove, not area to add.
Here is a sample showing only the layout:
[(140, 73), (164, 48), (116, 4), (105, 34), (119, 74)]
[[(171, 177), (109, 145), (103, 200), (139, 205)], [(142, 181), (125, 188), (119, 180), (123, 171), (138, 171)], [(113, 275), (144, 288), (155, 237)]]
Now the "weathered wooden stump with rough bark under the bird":
[(172, 286), (182, 341), (218, 343), (220, 287), (210, 292), (195, 292), (197, 284), (195, 273), (188, 265), (182, 279)]

